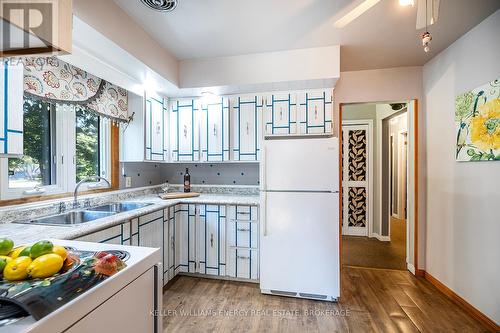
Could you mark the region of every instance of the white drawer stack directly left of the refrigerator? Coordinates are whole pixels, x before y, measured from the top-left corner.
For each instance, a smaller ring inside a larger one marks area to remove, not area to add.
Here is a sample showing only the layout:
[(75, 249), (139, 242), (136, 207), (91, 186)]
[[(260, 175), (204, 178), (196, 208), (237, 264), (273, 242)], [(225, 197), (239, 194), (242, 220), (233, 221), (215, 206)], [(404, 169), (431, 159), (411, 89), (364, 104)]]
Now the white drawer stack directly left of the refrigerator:
[(259, 279), (259, 211), (257, 206), (229, 206), (226, 274), (232, 278)]

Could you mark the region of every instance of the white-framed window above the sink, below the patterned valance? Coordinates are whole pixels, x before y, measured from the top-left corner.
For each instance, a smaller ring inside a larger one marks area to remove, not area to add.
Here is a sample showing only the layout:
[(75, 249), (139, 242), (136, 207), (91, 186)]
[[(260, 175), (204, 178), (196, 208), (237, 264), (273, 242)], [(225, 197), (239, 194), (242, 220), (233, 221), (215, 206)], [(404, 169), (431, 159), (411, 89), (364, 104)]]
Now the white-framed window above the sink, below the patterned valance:
[[(24, 97), (24, 155), (0, 159), (0, 199), (73, 192), (89, 176), (110, 180), (111, 122), (84, 106)], [(85, 184), (81, 190), (105, 187)]]

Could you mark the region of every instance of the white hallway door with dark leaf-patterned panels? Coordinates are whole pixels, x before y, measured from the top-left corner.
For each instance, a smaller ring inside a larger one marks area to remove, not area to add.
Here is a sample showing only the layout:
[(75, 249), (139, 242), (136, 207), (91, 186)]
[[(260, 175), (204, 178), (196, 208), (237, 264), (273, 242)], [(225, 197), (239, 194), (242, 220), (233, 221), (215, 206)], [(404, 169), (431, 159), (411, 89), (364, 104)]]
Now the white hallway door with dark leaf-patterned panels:
[(368, 236), (370, 221), (371, 126), (343, 122), (342, 234)]

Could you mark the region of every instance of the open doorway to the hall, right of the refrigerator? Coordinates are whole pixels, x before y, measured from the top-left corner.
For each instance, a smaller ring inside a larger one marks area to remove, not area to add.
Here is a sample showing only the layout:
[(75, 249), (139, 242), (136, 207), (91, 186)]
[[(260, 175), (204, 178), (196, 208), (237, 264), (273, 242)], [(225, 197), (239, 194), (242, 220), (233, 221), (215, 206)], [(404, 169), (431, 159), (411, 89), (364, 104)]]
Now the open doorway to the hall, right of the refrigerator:
[(411, 101), (342, 105), (344, 265), (414, 272), (409, 110)]

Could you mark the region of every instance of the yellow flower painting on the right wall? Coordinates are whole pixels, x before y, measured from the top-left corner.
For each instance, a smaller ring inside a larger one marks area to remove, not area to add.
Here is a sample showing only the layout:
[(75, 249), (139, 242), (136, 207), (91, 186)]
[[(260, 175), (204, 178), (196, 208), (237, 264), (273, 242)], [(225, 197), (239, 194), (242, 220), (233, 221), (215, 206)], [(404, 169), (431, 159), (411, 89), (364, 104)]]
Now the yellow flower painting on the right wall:
[(457, 161), (500, 161), (500, 79), (455, 99)]

